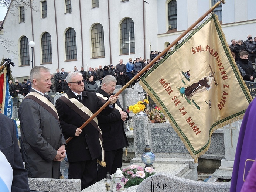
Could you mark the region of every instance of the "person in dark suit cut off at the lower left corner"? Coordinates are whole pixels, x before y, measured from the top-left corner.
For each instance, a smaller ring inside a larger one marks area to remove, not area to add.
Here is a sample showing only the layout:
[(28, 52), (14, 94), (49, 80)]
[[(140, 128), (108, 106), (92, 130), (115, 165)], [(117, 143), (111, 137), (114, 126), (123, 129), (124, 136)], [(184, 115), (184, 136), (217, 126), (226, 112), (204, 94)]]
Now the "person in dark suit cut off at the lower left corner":
[[(6, 159), (4, 159), (6, 157)], [(23, 162), (16, 137), (16, 127), (14, 122), (0, 113), (0, 178), (4, 174), (3, 180), (10, 179), (12, 192), (27, 192), (28, 187), (28, 172), (23, 167)], [(3, 167), (2, 167), (3, 166)], [(10, 170), (6, 170), (7, 168)], [(7, 178), (13, 170), (12, 179)], [(4, 171), (6, 170), (6, 171)], [(1, 187), (0, 191), (4, 190)]]

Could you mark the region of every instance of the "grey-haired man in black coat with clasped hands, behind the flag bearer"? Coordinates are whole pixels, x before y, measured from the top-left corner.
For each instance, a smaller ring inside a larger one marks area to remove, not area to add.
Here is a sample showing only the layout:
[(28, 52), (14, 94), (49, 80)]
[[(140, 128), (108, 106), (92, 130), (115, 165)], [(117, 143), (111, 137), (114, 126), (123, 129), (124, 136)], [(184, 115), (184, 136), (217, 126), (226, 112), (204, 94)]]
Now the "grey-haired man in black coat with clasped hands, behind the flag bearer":
[[(115, 90), (116, 78), (107, 75), (102, 80), (102, 86), (97, 89), (96, 95), (103, 101), (107, 100)], [(129, 113), (124, 110), (117, 100), (115, 109), (107, 116), (98, 115), (99, 127), (102, 130), (105, 149), (106, 167), (100, 166), (98, 180), (106, 177), (107, 172), (114, 174), (122, 166), (123, 147), (128, 146), (124, 131), (124, 121), (129, 120)]]

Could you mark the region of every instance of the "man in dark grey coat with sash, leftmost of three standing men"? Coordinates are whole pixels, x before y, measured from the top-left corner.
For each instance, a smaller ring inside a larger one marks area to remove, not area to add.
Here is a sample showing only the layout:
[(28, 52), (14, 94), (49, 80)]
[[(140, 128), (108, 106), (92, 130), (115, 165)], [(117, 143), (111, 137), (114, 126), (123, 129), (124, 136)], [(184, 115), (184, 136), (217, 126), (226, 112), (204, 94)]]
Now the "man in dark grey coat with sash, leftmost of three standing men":
[(30, 79), (32, 88), (18, 110), (22, 158), (29, 177), (59, 178), (66, 142), (57, 111), (45, 95), (50, 91), (51, 73), (46, 67), (35, 66)]

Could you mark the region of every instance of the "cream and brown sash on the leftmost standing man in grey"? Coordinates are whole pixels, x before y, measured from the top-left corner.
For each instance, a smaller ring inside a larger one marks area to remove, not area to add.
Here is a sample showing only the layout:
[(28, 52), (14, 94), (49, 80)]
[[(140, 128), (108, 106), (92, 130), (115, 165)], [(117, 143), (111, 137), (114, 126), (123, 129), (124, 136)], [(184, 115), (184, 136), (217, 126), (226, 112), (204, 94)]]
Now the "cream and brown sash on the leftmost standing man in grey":
[(55, 117), (55, 119), (59, 122), (59, 116), (57, 113), (57, 110), (55, 109), (54, 105), (43, 95), (37, 92), (30, 92), (27, 96), (24, 97), (24, 99), (32, 99), (33, 101), (40, 104), (42, 107), (44, 107), (45, 110), (47, 110), (49, 113), (52, 114), (52, 116)]

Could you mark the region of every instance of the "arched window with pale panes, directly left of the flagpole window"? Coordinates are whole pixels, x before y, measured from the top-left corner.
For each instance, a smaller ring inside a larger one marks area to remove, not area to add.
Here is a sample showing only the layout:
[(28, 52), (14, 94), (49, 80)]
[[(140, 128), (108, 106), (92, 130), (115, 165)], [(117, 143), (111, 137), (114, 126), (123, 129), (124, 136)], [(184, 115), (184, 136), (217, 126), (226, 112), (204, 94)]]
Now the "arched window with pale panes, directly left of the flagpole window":
[(100, 23), (95, 24), (91, 31), (92, 57), (105, 56), (104, 30)]

